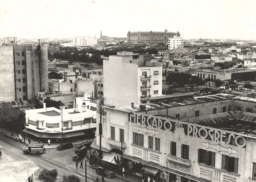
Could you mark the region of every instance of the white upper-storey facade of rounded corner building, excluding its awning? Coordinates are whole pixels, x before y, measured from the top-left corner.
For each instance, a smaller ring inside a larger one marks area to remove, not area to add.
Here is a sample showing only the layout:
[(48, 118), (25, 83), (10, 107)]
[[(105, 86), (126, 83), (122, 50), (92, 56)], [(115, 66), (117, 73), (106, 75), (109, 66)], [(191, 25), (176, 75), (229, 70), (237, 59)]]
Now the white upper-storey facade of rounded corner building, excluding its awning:
[(61, 109), (46, 108), (44, 103), (44, 108), (26, 110), (26, 128), (40, 133), (61, 133), (62, 123), (63, 133), (96, 128), (96, 107), (90, 99), (78, 97), (76, 108), (63, 107), (61, 116)]

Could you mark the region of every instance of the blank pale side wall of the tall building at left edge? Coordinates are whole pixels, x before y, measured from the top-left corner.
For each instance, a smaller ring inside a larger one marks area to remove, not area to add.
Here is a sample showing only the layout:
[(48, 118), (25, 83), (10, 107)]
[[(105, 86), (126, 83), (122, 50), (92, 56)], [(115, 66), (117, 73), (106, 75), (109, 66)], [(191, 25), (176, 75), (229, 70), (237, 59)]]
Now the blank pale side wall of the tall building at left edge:
[(15, 101), (13, 46), (0, 46), (0, 102)]

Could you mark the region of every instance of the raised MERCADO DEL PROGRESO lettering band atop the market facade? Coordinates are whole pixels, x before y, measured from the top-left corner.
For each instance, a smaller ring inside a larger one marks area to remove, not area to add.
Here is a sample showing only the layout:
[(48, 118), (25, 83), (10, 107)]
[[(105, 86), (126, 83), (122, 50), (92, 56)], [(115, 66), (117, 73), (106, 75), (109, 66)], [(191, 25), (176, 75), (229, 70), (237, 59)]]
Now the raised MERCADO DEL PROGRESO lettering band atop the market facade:
[(185, 123), (176, 120), (168, 120), (163, 117), (155, 117), (152, 115), (141, 113), (130, 113), (129, 122), (141, 124), (156, 129), (163, 129), (174, 132), (176, 128), (183, 128), (186, 135), (198, 137), (201, 139), (211, 140), (217, 143), (236, 145), (238, 147), (245, 147), (246, 140), (243, 136), (234, 132), (229, 132), (217, 128), (201, 126), (193, 123)]

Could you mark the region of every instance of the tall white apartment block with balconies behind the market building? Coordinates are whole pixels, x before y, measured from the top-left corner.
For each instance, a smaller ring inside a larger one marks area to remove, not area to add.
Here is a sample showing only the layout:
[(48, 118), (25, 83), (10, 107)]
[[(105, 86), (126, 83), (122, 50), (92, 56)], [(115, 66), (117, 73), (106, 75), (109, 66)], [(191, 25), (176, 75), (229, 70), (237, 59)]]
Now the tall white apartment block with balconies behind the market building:
[(117, 52), (103, 60), (104, 97), (116, 107), (144, 104), (162, 95), (162, 65), (133, 60), (132, 52)]

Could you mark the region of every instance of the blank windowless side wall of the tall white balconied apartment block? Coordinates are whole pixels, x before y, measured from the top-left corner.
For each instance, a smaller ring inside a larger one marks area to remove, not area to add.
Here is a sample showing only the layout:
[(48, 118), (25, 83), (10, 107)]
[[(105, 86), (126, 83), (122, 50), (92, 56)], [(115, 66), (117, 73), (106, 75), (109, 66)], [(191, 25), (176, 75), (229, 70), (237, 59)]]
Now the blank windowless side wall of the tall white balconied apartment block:
[(109, 56), (109, 61), (103, 60), (104, 97), (116, 107), (138, 104), (138, 65), (130, 61), (131, 56)]

